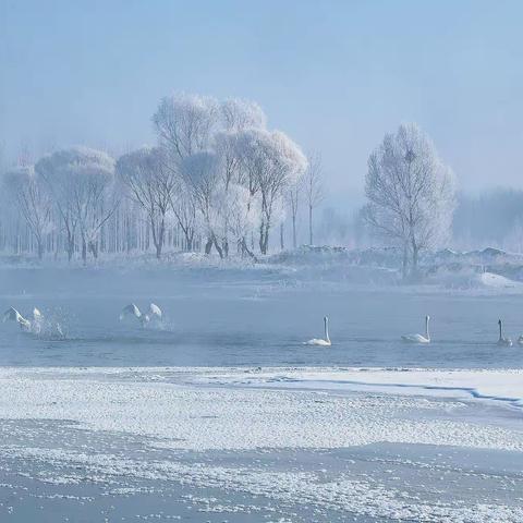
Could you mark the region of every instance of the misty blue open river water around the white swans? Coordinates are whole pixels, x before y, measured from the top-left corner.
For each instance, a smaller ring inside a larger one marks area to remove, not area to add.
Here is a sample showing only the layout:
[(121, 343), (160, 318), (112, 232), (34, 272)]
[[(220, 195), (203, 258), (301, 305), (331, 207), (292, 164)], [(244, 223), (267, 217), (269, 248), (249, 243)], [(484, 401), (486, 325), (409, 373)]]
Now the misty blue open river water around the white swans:
[[(519, 295), (364, 290), (269, 269), (2, 269), (0, 279), (1, 306), (37, 306), (65, 333), (38, 337), (3, 324), (1, 365), (523, 366), (518, 345), (495, 344), (498, 317), (507, 335), (523, 332)], [(145, 329), (120, 321), (132, 302), (143, 309), (157, 303), (163, 320)], [(401, 335), (424, 331), (426, 314), (433, 343), (402, 343)], [(332, 346), (303, 345), (323, 336), (324, 315)]]

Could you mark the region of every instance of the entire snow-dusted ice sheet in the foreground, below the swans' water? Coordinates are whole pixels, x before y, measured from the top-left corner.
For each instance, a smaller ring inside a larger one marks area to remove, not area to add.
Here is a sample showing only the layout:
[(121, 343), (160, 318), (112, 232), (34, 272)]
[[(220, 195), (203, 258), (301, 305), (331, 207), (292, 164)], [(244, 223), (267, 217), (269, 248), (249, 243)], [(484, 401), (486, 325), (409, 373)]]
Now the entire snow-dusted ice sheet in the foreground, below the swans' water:
[[(88, 510), (100, 492), (120, 506), (183, 488), (190, 494), (177, 514), (188, 503), (219, 521), (282, 521), (271, 514), (273, 501), (289, 514), (283, 521), (314, 513), (321, 521), (515, 523), (523, 518), (521, 410), (470, 391), (521, 398), (520, 378), (501, 370), (3, 367), (0, 488), (16, 490), (20, 469), (22, 483), (34, 482), (29, 491), (46, 492), (42, 503), (61, 499), (62, 508), (66, 496)], [(78, 497), (93, 482), (97, 489)], [(9, 507), (23, 513), (16, 502)]]

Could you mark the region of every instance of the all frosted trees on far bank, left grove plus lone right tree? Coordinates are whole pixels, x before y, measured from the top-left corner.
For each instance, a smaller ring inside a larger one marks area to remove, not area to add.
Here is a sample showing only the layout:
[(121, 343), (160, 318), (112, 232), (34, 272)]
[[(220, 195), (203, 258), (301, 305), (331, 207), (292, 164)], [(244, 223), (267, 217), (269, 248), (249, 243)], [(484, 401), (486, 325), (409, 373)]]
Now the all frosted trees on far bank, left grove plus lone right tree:
[[(0, 248), (39, 258), (65, 253), (84, 264), (100, 252), (160, 258), (166, 247), (257, 259), (278, 244), (275, 229), (284, 247), (285, 222), (296, 247), (300, 214), (314, 244), (321, 159), (268, 129), (259, 105), (175, 94), (160, 100), (151, 122), (154, 146), (118, 158), (70, 147), (3, 172)], [(449, 241), (454, 185), (415, 124), (386, 134), (372, 151), (358, 222), (401, 250), (405, 277), (416, 276), (424, 250)]]

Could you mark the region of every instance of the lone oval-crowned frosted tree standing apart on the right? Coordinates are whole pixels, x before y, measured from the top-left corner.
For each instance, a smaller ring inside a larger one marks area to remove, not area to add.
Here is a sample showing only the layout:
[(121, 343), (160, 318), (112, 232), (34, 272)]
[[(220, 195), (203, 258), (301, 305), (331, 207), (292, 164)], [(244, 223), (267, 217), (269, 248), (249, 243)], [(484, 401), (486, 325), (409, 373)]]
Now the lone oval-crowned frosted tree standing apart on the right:
[(454, 210), (451, 170), (415, 124), (387, 134), (368, 159), (367, 223), (403, 250), (403, 273), (415, 275), (419, 251), (445, 241)]

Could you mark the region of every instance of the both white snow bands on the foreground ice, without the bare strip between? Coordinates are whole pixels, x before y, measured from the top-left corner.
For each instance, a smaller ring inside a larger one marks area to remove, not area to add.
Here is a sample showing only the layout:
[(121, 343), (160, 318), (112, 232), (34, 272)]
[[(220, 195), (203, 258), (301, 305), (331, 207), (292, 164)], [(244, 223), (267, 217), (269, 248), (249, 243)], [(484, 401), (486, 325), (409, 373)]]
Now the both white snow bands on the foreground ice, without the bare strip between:
[[(252, 455), (259, 457), (267, 449), (283, 455), (287, 449), (374, 442), (521, 452), (522, 378), (523, 370), (511, 369), (0, 367), (0, 419), (71, 424), (73, 440), (78, 428), (118, 433), (123, 440), (126, 435), (146, 438), (139, 454), (126, 454), (95, 451), (74, 441), (46, 448), (34, 433), (24, 435), (28, 445), (16, 438), (0, 445), (0, 455), (39, 463), (36, 477), (52, 485), (112, 484), (114, 478), (133, 477), (263, 496), (277, 504), (300, 500), (318, 510), (392, 521), (516, 523), (523, 521), (523, 508), (515, 499), (438, 499), (430, 484), (418, 485), (419, 490), (391, 484), (394, 478), (386, 476), (393, 473), (393, 464), (384, 463), (390, 467), (385, 475), (357, 474), (343, 466), (326, 478), (321, 470), (271, 470), (252, 458), (232, 467), (209, 455), (257, 450)], [(471, 403), (498, 405), (512, 423), (471, 418)], [(166, 449), (177, 455), (196, 451), (203, 460), (166, 459), (159, 453)], [(439, 471), (434, 463), (413, 463), (399, 454), (397, 460), (400, 467)], [(488, 478), (482, 470), (473, 474)], [(518, 477), (496, 481), (501, 482), (498, 488), (512, 486), (515, 494)]]

